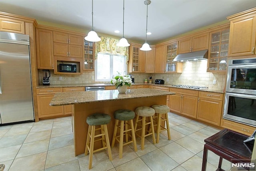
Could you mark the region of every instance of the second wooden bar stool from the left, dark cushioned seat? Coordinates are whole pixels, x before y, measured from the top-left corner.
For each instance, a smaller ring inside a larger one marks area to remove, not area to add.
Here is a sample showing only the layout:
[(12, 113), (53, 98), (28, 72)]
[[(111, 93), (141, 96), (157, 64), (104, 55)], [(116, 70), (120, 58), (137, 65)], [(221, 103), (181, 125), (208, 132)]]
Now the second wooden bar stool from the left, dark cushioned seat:
[[(119, 144), (119, 158), (122, 159), (123, 154), (123, 146), (133, 143), (134, 145), (134, 151), (137, 151), (137, 145), (136, 145), (136, 137), (134, 132), (134, 126), (133, 126), (133, 118), (135, 117), (134, 111), (128, 110), (128, 109), (120, 109), (114, 112), (114, 118), (116, 119), (115, 127), (114, 127), (114, 133), (113, 133), (113, 139), (111, 147), (114, 147), (115, 140), (117, 140)], [(120, 125), (118, 124), (120, 121)], [(130, 123), (128, 123), (130, 122)], [(128, 129), (128, 125), (130, 125), (130, 129)], [(120, 135), (116, 136), (117, 129), (120, 129)], [(132, 140), (128, 141), (129, 134), (128, 131), (131, 131), (132, 133)], [(125, 142), (124, 143), (124, 135), (125, 135)], [(120, 139), (118, 139), (118, 137)]]

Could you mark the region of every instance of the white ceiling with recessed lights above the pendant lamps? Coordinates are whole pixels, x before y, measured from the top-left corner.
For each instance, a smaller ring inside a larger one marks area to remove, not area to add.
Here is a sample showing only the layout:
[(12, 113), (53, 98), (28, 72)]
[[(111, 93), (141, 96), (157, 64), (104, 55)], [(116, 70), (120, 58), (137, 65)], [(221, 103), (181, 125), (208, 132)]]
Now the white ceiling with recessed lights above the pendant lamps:
[[(94, 0), (94, 30), (122, 37), (123, 1)], [(149, 44), (226, 20), (256, 7), (256, 0), (151, 0), (148, 5)], [(143, 42), (146, 37), (144, 0), (126, 0), (124, 37)], [(91, 0), (0, 0), (0, 11), (83, 29), (92, 27)], [(120, 30), (120, 33), (114, 33)]]

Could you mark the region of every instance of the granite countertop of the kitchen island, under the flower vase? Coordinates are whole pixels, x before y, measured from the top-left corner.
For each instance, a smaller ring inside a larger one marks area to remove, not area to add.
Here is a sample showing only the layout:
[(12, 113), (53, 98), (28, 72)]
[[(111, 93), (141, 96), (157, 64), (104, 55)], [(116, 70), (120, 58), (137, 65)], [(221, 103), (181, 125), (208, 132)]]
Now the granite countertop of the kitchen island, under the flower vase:
[(172, 95), (174, 92), (158, 89), (140, 88), (127, 89), (126, 93), (119, 93), (118, 90), (98, 90), (98, 91), (75, 91), (56, 93), (50, 102), (52, 106), (74, 105), (80, 103), (94, 103), (100, 101), (115, 101), (122, 99), (134, 99), (143, 97), (155, 97)]

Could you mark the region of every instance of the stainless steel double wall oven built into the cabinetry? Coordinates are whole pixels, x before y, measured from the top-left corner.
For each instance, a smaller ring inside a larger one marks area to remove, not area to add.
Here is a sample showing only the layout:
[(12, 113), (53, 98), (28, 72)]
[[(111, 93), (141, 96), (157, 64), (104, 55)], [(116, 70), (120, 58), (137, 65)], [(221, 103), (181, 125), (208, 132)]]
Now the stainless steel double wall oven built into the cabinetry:
[(256, 126), (256, 58), (228, 60), (223, 117)]

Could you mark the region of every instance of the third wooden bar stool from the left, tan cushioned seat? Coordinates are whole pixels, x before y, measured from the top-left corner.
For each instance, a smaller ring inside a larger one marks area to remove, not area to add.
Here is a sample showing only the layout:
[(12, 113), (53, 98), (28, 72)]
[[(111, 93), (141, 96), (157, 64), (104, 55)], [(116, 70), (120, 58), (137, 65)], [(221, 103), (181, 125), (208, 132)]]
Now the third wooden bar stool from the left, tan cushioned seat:
[[(152, 135), (152, 139), (153, 139), (153, 143), (156, 143), (156, 139), (155, 139), (155, 132), (154, 132), (154, 123), (153, 123), (153, 118), (152, 116), (155, 114), (155, 110), (151, 107), (147, 107), (147, 106), (140, 106), (137, 107), (135, 109), (135, 113), (136, 113), (136, 120), (135, 120), (135, 133), (136, 131), (141, 130), (141, 135), (138, 135), (139, 137), (141, 137), (141, 149), (144, 150), (144, 142), (145, 142), (145, 137)], [(141, 119), (139, 119), (139, 117), (142, 117)], [(150, 121), (146, 121), (146, 117), (150, 118)], [(140, 125), (140, 121), (142, 121), (141, 124), (141, 128), (137, 129), (137, 126)], [(151, 127), (151, 131), (148, 131), (149, 129), (146, 130), (146, 125), (150, 124)], [(148, 132), (146, 134), (146, 131)]]

